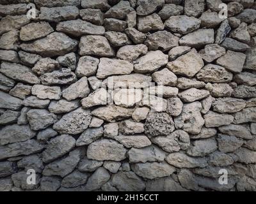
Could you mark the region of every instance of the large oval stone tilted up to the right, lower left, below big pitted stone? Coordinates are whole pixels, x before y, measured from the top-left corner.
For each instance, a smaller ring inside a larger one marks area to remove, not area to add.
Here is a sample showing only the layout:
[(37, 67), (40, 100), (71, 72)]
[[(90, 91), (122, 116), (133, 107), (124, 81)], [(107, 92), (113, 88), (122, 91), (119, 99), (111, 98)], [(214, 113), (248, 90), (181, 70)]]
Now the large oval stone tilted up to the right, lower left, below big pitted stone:
[(75, 147), (76, 140), (69, 135), (61, 135), (53, 138), (47, 143), (46, 149), (42, 153), (44, 163), (49, 163), (58, 157), (70, 152)]

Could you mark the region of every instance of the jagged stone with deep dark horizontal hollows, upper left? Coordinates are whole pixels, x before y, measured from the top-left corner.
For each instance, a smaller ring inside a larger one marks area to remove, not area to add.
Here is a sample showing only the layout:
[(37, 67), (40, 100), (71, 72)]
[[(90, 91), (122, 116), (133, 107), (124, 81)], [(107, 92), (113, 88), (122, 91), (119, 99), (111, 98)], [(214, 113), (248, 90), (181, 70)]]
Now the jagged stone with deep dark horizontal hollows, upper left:
[(62, 68), (60, 70), (45, 73), (40, 77), (42, 84), (55, 85), (55, 84), (72, 84), (76, 82), (77, 78), (74, 72), (70, 69)]

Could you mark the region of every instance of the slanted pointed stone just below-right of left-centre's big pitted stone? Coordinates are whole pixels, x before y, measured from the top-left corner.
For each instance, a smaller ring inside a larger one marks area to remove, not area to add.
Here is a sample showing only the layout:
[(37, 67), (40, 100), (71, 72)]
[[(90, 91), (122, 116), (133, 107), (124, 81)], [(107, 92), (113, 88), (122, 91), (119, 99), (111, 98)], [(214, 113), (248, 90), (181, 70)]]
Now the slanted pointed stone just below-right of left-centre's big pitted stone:
[(77, 139), (76, 146), (90, 145), (103, 135), (103, 128), (88, 128)]

